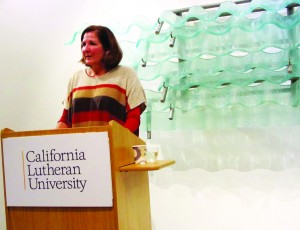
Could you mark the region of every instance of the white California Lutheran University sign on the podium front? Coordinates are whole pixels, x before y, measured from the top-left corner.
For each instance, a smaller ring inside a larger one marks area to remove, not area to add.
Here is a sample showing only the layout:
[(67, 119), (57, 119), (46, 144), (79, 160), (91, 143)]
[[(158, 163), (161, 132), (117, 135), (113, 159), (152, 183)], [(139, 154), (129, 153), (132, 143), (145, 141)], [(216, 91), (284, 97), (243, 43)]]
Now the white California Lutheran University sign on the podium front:
[(108, 132), (3, 139), (7, 206), (112, 207)]

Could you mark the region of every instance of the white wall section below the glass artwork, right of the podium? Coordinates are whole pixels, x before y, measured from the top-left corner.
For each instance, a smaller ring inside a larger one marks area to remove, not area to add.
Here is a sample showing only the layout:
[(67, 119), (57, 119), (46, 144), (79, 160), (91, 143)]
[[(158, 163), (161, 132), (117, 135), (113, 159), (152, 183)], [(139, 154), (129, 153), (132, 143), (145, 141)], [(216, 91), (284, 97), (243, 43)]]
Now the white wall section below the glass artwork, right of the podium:
[(150, 173), (153, 229), (298, 230), (299, 131), (154, 132), (176, 165)]

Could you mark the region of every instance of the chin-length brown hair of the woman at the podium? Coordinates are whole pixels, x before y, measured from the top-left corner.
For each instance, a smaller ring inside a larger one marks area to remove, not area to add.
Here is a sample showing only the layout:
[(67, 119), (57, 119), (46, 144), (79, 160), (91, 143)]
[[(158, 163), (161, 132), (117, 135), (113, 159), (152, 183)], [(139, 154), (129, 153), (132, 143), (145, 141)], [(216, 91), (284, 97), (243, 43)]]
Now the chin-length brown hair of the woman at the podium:
[[(102, 63), (104, 64), (106, 71), (118, 66), (123, 58), (123, 52), (113, 32), (105, 26), (91, 25), (82, 32), (81, 42), (84, 34), (88, 32), (96, 32), (103, 49), (107, 51), (107, 54), (102, 59)], [(80, 62), (86, 64), (84, 57), (81, 58)]]

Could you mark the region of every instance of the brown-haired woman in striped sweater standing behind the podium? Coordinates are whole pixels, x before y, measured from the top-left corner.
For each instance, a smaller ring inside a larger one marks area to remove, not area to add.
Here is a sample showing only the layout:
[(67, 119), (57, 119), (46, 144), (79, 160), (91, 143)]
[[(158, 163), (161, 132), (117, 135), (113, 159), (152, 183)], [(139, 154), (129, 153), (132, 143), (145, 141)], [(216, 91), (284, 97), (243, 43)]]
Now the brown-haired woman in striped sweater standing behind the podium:
[(119, 65), (123, 53), (114, 34), (104, 26), (87, 27), (81, 34), (81, 52), (87, 68), (71, 77), (57, 128), (115, 120), (138, 135), (145, 92), (135, 71)]

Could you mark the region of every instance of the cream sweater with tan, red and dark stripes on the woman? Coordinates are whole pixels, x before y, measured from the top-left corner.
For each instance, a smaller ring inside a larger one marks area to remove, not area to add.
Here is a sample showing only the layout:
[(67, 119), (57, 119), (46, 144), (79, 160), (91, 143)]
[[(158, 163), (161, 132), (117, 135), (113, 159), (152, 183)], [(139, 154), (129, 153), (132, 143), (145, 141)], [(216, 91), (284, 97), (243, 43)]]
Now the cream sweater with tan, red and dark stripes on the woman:
[(67, 113), (61, 122), (69, 127), (102, 125), (110, 120), (124, 125), (130, 110), (140, 107), (141, 113), (144, 111), (145, 92), (133, 69), (118, 66), (95, 77), (86, 71), (76, 72), (69, 81), (64, 101)]

